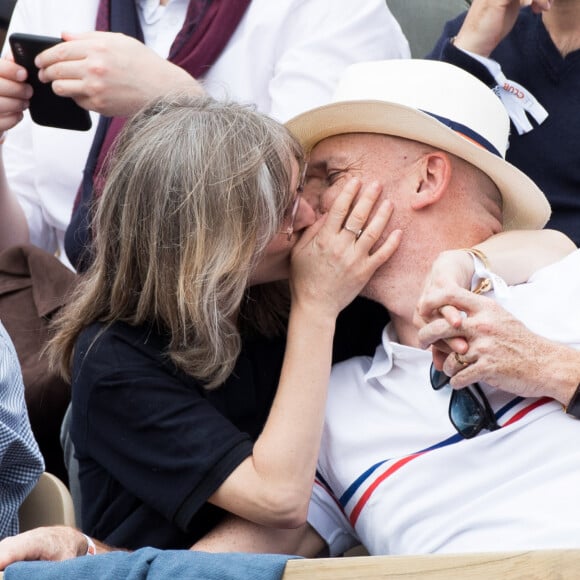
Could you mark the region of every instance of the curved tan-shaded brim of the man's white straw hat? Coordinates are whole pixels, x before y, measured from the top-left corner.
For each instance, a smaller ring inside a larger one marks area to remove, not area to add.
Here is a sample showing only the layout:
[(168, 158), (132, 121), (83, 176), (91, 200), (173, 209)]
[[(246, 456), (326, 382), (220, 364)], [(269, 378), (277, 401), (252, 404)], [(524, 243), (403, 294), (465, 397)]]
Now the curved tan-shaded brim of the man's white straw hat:
[(541, 229), (550, 217), (548, 201), (527, 175), (412, 107), (384, 101), (342, 101), (302, 113), (286, 126), (307, 153), (323, 139), (345, 133), (379, 133), (431, 145), (468, 161), (497, 185), (503, 198), (504, 230)]

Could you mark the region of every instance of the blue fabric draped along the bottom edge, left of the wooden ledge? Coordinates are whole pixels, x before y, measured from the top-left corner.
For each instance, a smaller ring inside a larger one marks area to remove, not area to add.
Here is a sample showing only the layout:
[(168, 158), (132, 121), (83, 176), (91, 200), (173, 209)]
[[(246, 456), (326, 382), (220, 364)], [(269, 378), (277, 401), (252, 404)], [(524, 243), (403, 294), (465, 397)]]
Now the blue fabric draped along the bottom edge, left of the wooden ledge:
[(278, 580), (286, 562), (295, 557), (142, 548), (64, 562), (17, 562), (8, 566), (4, 580)]

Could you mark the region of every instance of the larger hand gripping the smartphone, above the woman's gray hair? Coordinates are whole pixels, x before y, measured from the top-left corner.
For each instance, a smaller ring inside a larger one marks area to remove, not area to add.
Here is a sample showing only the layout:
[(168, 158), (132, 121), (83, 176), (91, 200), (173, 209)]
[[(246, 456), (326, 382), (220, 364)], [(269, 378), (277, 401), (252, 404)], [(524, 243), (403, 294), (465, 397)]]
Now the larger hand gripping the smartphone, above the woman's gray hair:
[(185, 70), (130, 36), (65, 33), (63, 39), (36, 57), (39, 78), (85, 109), (125, 117), (169, 92), (204, 93)]

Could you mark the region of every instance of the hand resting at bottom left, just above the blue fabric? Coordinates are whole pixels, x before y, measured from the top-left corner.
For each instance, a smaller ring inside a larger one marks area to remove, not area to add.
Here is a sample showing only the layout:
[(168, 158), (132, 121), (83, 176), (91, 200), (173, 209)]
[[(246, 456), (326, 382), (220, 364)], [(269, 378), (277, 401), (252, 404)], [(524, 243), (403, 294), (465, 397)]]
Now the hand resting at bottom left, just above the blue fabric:
[(0, 542), (0, 570), (22, 560), (60, 561), (84, 556), (86, 553), (87, 539), (75, 528), (35, 528)]

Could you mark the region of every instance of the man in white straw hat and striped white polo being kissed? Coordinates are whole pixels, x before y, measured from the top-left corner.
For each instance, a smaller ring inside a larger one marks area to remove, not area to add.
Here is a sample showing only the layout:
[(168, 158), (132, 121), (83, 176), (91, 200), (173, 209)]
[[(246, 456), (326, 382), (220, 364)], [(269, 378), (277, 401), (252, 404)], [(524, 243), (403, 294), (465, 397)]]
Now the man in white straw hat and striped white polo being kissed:
[[(504, 160), (501, 102), (446, 63), (377, 61), (350, 67), (332, 104), (288, 126), (310, 153), (304, 194), (320, 213), (351, 177), (376, 182), (393, 201), (388, 229), (401, 229), (402, 241), (364, 291), (391, 323), (373, 358), (333, 370), (310, 526), (230, 520), (194, 549), (311, 556), (361, 542), (371, 554), (580, 546), (576, 420), (548, 397), (485, 384), (452, 391), (413, 325), (433, 260), (468, 248), (474, 288), (485, 281), (488, 296), (531, 330), (580, 347), (580, 252), (508, 288), (470, 250), (502, 229), (539, 229), (550, 214), (542, 192)], [(344, 228), (353, 244), (369, 235), (354, 214)], [(44, 529), (42, 537), (49, 533), (62, 550), (29, 536), (7, 558), (86, 550), (74, 530)]]

